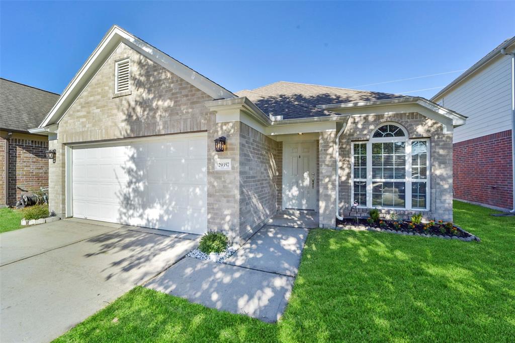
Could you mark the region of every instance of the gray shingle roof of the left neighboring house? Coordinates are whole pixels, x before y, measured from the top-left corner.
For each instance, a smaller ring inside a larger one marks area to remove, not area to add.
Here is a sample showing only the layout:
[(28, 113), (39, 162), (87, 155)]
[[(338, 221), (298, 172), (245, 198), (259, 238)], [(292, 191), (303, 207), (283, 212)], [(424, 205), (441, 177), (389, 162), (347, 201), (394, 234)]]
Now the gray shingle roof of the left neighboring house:
[(0, 128), (27, 131), (38, 127), (59, 94), (0, 78)]

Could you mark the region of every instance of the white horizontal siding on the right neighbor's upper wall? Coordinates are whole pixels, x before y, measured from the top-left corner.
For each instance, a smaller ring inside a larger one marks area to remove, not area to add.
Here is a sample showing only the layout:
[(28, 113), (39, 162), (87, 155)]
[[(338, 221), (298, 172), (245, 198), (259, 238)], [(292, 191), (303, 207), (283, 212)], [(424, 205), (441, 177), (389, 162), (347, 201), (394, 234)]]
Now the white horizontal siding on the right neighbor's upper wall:
[(498, 56), (435, 102), (468, 116), (454, 143), (511, 128), (511, 57)]

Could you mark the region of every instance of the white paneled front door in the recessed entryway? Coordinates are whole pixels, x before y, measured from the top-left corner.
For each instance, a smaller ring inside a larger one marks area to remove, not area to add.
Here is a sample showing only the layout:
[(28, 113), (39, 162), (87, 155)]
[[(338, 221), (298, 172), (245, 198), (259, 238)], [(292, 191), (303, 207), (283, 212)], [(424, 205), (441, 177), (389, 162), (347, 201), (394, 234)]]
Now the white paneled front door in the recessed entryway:
[(316, 142), (283, 144), (283, 208), (317, 208)]

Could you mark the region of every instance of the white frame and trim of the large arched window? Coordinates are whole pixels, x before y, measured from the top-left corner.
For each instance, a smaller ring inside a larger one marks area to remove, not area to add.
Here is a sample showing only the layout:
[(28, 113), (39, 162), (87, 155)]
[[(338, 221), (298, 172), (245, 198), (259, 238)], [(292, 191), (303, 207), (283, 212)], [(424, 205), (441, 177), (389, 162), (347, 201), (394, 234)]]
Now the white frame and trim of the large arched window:
[[(404, 131), (404, 137), (386, 137), (386, 138), (372, 138), (375, 130), (383, 125), (396, 125)], [(365, 179), (354, 179), (354, 144), (366, 144), (367, 145), (367, 204), (360, 204), (358, 208), (368, 209), (380, 209), (380, 210), (404, 210), (404, 211), (430, 211), (431, 209), (431, 140), (429, 138), (413, 138), (410, 139), (407, 131), (402, 125), (397, 123), (382, 123), (381, 125), (374, 128), (370, 134), (370, 140), (368, 141), (353, 141), (351, 142), (351, 203), (354, 203), (354, 181), (365, 181)], [(426, 166), (426, 178), (425, 179), (413, 179), (411, 177), (411, 143), (416, 141), (427, 142), (427, 166)], [(390, 142), (405, 142), (406, 148), (406, 176), (404, 179), (373, 179), (374, 182), (404, 182), (404, 203), (405, 207), (383, 207), (383, 206), (372, 206), (372, 143), (390, 143)], [(426, 183), (426, 207), (424, 208), (413, 208), (411, 205), (411, 185), (413, 182), (425, 182)]]

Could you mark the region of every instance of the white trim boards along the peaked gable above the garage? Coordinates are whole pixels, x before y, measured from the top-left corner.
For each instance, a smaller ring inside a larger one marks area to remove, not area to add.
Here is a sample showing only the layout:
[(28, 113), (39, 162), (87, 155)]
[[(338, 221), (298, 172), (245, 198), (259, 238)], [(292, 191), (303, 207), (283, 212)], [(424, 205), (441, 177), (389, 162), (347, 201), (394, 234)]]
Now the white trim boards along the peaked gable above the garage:
[(39, 126), (44, 127), (48, 124), (55, 124), (58, 118), (71, 106), (75, 98), (80, 94), (83, 87), (89, 82), (90, 78), (95, 75), (98, 68), (104, 64), (108, 56), (119, 45), (125, 42), (131, 48), (150, 60), (163, 66), (170, 72), (190, 82), (192, 85), (205, 92), (213, 98), (234, 98), (234, 94), (209, 80), (207, 77), (198, 74), (190, 67), (180, 63), (179, 61), (164, 54), (159, 49), (147, 44), (141, 39), (131, 35), (124, 29), (114, 25), (104, 36), (100, 44), (95, 48), (88, 60), (82, 65), (72, 81), (67, 85), (54, 107), (48, 112)]

